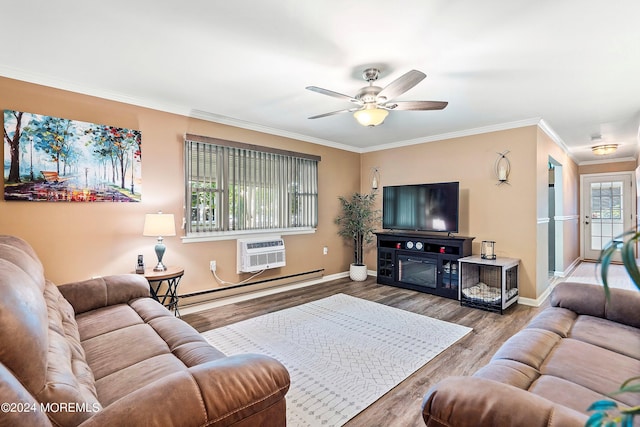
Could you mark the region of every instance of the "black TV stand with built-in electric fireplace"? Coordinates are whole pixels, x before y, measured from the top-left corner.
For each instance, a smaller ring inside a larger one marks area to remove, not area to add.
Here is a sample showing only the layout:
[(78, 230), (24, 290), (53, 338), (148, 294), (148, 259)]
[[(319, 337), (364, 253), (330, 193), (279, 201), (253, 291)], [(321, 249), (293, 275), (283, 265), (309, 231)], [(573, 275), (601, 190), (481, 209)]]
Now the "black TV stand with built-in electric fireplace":
[(381, 231), (376, 236), (378, 283), (459, 298), (458, 259), (471, 255), (474, 237), (419, 231)]

